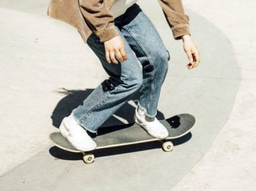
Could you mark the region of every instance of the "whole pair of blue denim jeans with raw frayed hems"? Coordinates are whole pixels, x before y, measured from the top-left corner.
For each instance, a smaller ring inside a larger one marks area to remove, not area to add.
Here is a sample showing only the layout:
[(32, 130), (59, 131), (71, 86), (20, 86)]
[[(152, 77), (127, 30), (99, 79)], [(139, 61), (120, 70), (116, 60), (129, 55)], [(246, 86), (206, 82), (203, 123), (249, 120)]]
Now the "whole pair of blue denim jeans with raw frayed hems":
[(133, 4), (115, 18), (114, 24), (124, 40), (126, 61), (108, 63), (104, 43), (95, 33), (86, 41), (109, 75), (82, 104), (72, 110), (76, 122), (90, 132), (97, 132), (137, 91), (140, 92), (138, 105), (147, 116), (156, 116), (161, 87), (168, 71), (170, 54), (138, 4)]

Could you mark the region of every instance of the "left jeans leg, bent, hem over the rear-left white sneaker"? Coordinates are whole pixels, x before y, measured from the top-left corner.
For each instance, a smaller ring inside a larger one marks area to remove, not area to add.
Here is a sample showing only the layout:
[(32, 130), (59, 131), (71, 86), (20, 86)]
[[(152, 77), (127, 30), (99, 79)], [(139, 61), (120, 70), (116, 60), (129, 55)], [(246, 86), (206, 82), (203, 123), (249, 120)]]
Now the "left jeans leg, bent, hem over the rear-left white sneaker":
[[(140, 63), (128, 42), (116, 27), (124, 40), (128, 59), (118, 64), (108, 63), (105, 57), (104, 43), (94, 33), (88, 38), (87, 44), (100, 59), (102, 66), (110, 76), (72, 110), (72, 116), (78, 124), (90, 132), (96, 132), (118, 108), (124, 105), (142, 86)], [(117, 59), (118, 60), (118, 59)]]

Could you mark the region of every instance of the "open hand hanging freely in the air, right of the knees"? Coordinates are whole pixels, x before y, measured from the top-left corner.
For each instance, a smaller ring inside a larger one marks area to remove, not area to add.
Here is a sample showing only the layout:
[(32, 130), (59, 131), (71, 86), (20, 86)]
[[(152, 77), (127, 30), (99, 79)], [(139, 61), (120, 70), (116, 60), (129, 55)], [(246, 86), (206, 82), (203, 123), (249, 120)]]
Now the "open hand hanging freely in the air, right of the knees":
[(188, 69), (192, 69), (198, 66), (200, 62), (200, 53), (199, 50), (194, 45), (190, 35), (183, 35), (183, 48), (186, 52), (189, 60), (189, 64), (187, 65)]

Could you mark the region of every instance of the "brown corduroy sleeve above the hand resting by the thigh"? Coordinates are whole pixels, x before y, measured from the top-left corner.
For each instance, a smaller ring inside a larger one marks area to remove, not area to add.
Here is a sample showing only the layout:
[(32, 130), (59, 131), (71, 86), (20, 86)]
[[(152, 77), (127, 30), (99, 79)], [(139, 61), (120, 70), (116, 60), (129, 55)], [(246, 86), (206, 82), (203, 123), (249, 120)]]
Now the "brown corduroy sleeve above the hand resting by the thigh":
[[(114, 0), (110, 2), (113, 4)], [(79, 4), (86, 23), (101, 42), (119, 35), (114, 25), (114, 15), (108, 9), (106, 0), (79, 0)]]

